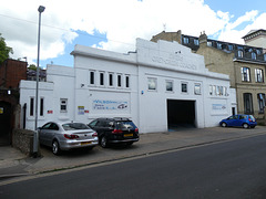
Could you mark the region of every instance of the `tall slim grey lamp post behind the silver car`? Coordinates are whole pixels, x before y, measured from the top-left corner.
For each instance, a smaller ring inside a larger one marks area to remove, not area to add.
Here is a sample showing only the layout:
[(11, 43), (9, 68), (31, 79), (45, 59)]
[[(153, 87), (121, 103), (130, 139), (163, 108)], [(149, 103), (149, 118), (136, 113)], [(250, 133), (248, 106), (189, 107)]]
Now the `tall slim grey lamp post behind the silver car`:
[(38, 31), (38, 55), (37, 55), (37, 90), (35, 90), (35, 130), (38, 128), (38, 92), (39, 92), (39, 59), (40, 59), (40, 35), (41, 35), (41, 13), (45, 10), (45, 7), (40, 6), (39, 12), (39, 31)]

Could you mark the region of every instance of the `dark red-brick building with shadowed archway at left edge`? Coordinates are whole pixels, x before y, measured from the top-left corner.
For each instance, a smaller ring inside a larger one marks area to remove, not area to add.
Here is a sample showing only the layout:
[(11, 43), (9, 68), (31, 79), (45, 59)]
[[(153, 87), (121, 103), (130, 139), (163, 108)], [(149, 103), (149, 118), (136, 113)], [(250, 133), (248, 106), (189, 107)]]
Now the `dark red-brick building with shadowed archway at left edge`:
[(0, 146), (11, 144), (20, 127), (19, 83), (27, 80), (27, 62), (8, 59), (0, 65)]

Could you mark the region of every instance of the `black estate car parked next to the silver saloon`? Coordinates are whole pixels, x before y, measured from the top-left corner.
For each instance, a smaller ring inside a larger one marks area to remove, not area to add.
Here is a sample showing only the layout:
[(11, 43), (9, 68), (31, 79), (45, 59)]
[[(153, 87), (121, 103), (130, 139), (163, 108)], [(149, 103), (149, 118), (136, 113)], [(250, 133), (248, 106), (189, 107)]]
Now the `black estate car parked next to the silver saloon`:
[(98, 118), (89, 126), (96, 130), (100, 145), (105, 148), (109, 144), (125, 143), (132, 145), (139, 142), (139, 128), (129, 118)]

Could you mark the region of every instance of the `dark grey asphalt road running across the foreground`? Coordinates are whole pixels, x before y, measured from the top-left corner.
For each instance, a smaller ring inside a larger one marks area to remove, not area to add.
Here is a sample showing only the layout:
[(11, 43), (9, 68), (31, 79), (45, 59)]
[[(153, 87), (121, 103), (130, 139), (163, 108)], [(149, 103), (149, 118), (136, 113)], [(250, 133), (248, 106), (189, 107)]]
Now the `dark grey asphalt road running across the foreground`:
[(0, 198), (266, 198), (266, 136), (0, 187)]

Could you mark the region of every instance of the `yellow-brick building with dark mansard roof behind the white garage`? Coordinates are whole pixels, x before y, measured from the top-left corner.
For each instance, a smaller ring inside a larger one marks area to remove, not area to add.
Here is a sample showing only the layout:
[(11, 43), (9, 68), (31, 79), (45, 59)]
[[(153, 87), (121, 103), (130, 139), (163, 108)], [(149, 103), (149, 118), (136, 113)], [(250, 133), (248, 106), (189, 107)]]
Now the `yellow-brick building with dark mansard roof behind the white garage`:
[[(266, 31), (252, 30), (243, 36), (245, 44), (211, 40), (205, 32), (192, 36), (177, 32), (161, 32), (151, 41), (176, 41), (204, 55), (209, 71), (228, 74), (231, 87), (236, 90), (237, 111), (232, 114), (253, 114), (264, 118), (265, 108), (265, 66), (266, 66)], [(209, 92), (216, 92), (209, 86)]]

